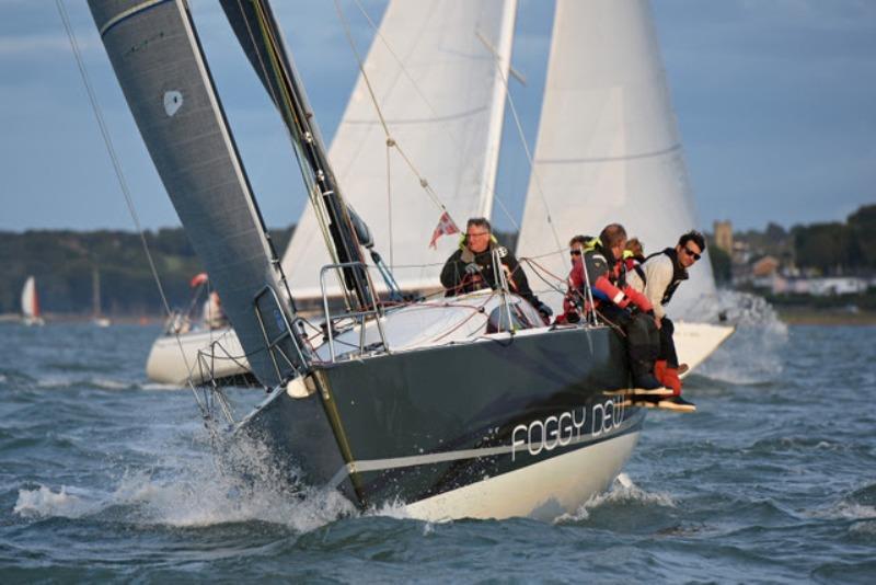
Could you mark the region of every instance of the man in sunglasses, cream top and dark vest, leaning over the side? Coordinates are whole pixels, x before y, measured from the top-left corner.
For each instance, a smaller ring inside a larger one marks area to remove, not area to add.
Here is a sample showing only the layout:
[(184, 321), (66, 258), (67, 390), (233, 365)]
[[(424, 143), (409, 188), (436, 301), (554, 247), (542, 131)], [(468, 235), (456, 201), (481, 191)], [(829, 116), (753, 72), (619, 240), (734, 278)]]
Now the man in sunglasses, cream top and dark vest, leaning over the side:
[[(664, 307), (672, 300), (679, 285), (688, 279), (688, 269), (702, 257), (705, 251), (705, 238), (699, 231), (689, 231), (681, 236), (676, 248), (667, 248), (662, 252), (652, 254), (642, 264), (642, 276), (630, 276), (631, 285), (639, 290), (654, 306), (654, 322), (660, 332), (660, 355), (654, 366), (654, 375), (664, 386), (675, 391), (672, 398), (664, 399), (661, 406), (681, 411), (695, 410), (692, 403), (681, 398), (681, 380), (676, 344), (672, 340), (675, 325), (666, 316)], [(665, 404), (664, 404), (665, 402)]]

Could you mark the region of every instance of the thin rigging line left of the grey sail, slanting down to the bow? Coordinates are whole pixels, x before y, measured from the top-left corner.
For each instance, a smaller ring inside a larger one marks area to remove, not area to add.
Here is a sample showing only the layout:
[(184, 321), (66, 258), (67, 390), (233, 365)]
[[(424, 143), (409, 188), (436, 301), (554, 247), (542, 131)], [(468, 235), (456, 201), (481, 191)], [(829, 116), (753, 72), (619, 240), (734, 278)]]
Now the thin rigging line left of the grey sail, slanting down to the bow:
[[(128, 188), (128, 182), (125, 180), (125, 174), (122, 172), (122, 164), (118, 160), (118, 156), (115, 150), (115, 146), (113, 146), (113, 140), (110, 137), (110, 130), (106, 127), (106, 123), (103, 119), (103, 113), (101, 111), (101, 106), (97, 103), (97, 96), (94, 92), (94, 88), (91, 84), (91, 78), (89, 77), (88, 71), (85, 70), (85, 64), (82, 60), (82, 54), (79, 50), (79, 43), (77, 43), (76, 35), (73, 34), (73, 28), (70, 25), (70, 18), (67, 14), (67, 8), (64, 5), (64, 0), (55, 0), (55, 4), (58, 8), (58, 13), (61, 16), (61, 21), (64, 22), (64, 27), (67, 31), (67, 37), (70, 39), (70, 47), (73, 50), (73, 57), (76, 57), (77, 67), (79, 67), (79, 73), (82, 76), (82, 82), (85, 85), (85, 92), (89, 96), (89, 102), (91, 102), (91, 108), (94, 112), (94, 117), (97, 119), (97, 127), (101, 130), (101, 136), (103, 137), (104, 146), (106, 147), (106, 151), (110, 154), (110, 160), (113, 163), (113, 169), (116, 173), (116, 179), (118, 181), (118, 185), (122, 188), (122, 193), (125, 195), (125, 202), (128, 206), (128, 213), (130, 214), (131, 220), (134, 221), (134, 226), (137, 229), (137, 233), (140, 236), (140, 242), (143, 246), (143, 252), (146, 252), (147, 261), (149, 262), (149, 268), (152, 272), (152, 278), (155, 280), (155, 286), (158, 287), (159, 295), (161, 296), (161, 302), (164, 306), (164, 311), (166, 312), (168, 317), (171, 317), (173, 313), (171, 311), (170, 302), (168, 301), (168, 296), (164, 294), (164, 287), (161, 285), (161, 278), (158, 275), (158, 269), (155, 268), (155, 262), (152, 259), (152, 253), (149, 251), (149, 243), (146, 240), (146, 234), (143, 232), (142, 226), (140, 225), (140, 218), (137, 215), (137, 208), (134, 205), (134, 197), (130, 194), (130, 190)], [(201, 412), (201, 415), (205, 417), (207, 416), (206, 406), (201, 403), (200, 399), (198, 398), (197, 391), (195, 390), (195, 386), (192, 382), (192, 372), (194, 371), (194, 366), (189, 366), (188, 359), (185, 356), (185, 352), (183, 351), (183, 343), (180, 340), (178, 332), (174, 332), (176, 337), (176, 344), (180, 347), (180, 353), (183, 356), (183, 363), (185, 364), (186, 371), (188, 371), (188, 387), (192, 389), (192, 393), (195, 395), (195, 402), (197, 402), (198, 408)]]

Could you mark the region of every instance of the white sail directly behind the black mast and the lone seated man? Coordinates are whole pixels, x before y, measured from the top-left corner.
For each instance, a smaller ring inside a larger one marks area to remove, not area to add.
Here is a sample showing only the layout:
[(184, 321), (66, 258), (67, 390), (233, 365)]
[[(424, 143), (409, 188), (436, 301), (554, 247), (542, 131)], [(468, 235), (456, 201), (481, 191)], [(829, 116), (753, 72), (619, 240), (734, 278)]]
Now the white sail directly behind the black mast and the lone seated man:
[[(346, 200), (365, 219), (403, 290), (435, 288), (456, 236), (429, 248), (442, 215), (492, 211), (516, 0), (390, 1), (328, 152)], [(464, 225), (460, 226), (464, 229)], [(320, 295), (328, 255), (308, 205), (284, 256), (296, 297)]]

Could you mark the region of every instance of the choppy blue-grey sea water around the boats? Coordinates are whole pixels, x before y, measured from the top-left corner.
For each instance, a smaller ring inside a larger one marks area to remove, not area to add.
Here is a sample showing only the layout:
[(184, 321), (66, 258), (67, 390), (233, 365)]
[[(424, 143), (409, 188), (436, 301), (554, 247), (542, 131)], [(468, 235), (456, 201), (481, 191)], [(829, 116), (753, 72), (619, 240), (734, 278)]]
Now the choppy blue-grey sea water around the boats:
[(145, 377), (155, 328), (2, 324), (0, 583), (876, 582), (876, 330), (736, 318), (607, 493), (446, 524), (290, 495), (257, 446), (255, 482), (223, 473), (192, 392)]

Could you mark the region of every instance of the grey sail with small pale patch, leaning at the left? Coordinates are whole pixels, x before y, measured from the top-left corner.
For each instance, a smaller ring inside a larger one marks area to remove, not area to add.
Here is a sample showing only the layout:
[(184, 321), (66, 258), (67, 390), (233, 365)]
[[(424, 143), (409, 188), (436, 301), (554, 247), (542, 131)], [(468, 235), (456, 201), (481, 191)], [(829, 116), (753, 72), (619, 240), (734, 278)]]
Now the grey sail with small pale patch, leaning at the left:
[(253, 374), (280, 383), (303, 362), (276, 254), (186, 3), (89, 0), (137, 126)]

